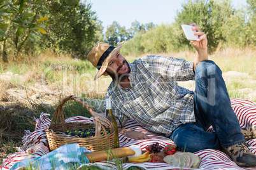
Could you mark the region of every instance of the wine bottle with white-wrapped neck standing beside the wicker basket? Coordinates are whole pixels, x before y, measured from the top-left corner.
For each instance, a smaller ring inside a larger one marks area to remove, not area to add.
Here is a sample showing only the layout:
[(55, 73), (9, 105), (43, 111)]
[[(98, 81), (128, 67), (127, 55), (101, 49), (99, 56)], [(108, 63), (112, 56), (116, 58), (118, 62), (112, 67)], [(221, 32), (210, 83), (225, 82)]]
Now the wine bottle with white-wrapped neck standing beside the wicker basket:
[(111, 99), (106, 98), (106, 118), (110, 120), (112, 126), (115, 128), (115, 141), (114, 146), (115, 148), (119, 148), (119, 137), (118, 137), (118, 128), (117, 128), (117, 121), (115, 121), (112, 113), (111, 107)]

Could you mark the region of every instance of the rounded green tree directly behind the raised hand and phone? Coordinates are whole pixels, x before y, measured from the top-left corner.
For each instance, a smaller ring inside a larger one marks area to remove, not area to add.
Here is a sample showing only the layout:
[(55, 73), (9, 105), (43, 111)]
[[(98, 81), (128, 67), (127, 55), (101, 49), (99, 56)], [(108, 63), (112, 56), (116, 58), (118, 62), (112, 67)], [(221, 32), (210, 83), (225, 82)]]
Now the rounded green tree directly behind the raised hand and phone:
[(180, 29), (181, 24), (189, 24), (190, 22), (196, 22), (197, 25), (200, 25), (201, 30), (206, 33), (210, 52), (214, 51), (220, 42), (225, 42), (222, 27), (236, 12), (232, 8), (230, 0), (189, 0), (182, 6), (182, 10), (177, 12), (174, 23), (176, 26), (176, 35), (179, 37), (177, 44), (188, 46), (190, 43), (185, 39)]

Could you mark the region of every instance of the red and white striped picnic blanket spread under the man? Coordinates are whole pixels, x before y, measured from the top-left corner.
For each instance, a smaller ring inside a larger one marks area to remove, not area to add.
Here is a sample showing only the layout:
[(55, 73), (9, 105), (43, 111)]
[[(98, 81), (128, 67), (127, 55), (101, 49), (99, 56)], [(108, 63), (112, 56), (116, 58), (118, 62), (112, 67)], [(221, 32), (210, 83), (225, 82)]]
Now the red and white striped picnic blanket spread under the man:
[[(256, 124), (255, 103), (250, 100), (231, 98), (231, 105), (239, 119), (241, 128)], [(3, 160), (3, 164), (0, 165), (0, 170), (10, 169), (16, 162), (21, 160), (41, 157), (49, 153), (45, 134), (45, 128), (50, 126), (50, 119), (48, 119), (48, 115), (49, 114), (41, 113), (38, 119), (34, 119), (36, 121), (34, 132), (31, 133), (30, 131), (25, 131), (25, 135), (23, 137), (23, 146), (21, 148), (17, 148), (18, 152), (8, 155), (8, 157)], [(66, 119), (66, 122), (92, 121), (92, 117), (87, 118), (82, 116), (75, 116)], [(159, 145), (162, 145), (163, 147), (166, 147), (166, 145), (174, 145), (173, 141), (166, 136), (152, 133), (151, 131), (146, 130), (132, 120), (129, 120), (124, 128), (145, 133), (150, 137), (150, 140), (133, 140), (122, 134), (119, 134), (120, 147), (139, 145), (141, 146), (142, 150), (145, 150), (146, 145), (151, 145), (155, 142), (159, 142)], [(213, 129), (210, 128), (208, 131), (213, 131)], [(246, 141), (246, 144), (253, 152), (253, 154), (256, 154), (256, 139)], [(237, 166), (236, 163), (232, 162), (232, 160), (227, 155), (225, 155), (223, 152), (220, 152), (219, 150), (205, 149), (195, 152), (194, 154), (198, 155), (202, 159), (199, 169), (256, 169), (256, 167), (242, 168)], [(97, 165), (99, 167), (104, 167), (105, 169), (118, 169), (118, 167), (115, 165), (115, 162), (113, 161), (101, 161), (94, 164), (90, 163), (88, 165)], [(125, 163), (122, 166), (124, 169), (127, 169), (131, 166), (143, 167), (145, 169), (180, 169), (180, 167), (173, 167), (169, 164), (152, 162)], [(182, 169), (190, 168), (182, 167)]]

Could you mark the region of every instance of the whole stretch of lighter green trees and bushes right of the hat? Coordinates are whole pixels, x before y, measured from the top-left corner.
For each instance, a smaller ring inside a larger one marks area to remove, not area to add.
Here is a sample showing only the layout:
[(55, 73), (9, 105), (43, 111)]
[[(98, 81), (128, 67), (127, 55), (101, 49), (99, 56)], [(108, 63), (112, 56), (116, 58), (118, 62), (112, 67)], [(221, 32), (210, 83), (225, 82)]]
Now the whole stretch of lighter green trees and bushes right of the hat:
[[(213, 53), (225, 47), (255, 48), (255, 0), (248, 6), (235, 9), (231, 0), (187, 0), (177, 11), (175, 22), (159, 25), (145, 34), (135, 34), (128, 40), (122, 52), (138, 56), (143, 53), (162, 53), (194, 50), (181, 29), (181, 24), (195, 22), (208, 37), (208, 51)], [(137, 24), (138, 25), (138, 24)], [(134, 26), (138, 28), (138, 26)]]

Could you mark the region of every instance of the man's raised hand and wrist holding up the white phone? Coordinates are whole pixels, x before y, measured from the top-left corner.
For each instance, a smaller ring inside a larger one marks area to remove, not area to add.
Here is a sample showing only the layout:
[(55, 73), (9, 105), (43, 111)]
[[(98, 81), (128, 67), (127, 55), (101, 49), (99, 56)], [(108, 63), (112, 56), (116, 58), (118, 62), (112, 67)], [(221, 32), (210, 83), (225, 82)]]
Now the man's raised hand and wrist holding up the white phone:
[(196, 48), (196, 57), (194, 58), (194, 72), (196, 71), (196, 66), (198, 63), (208, 60), (208, 51), (207, 51), (207, 37), (204, 32), (202, 32), (196, 23), (190, 23), (192, 25), (192, 30), (196, 30), (194, 32), (195, 36), (198, 36), (198, 39), (195, 41), (190, 41), (194, 48)]

